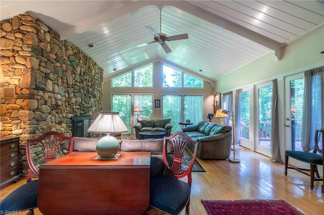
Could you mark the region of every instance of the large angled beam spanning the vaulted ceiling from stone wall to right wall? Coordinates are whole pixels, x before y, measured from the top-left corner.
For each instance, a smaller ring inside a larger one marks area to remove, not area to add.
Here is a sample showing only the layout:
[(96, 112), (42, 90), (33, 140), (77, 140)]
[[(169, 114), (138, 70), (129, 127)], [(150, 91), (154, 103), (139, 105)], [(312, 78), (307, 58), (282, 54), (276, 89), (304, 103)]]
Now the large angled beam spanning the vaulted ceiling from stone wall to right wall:
[(193, 16), (199, 17), (207, 22), (210, 22), (233, 33), (236, 33), (242, 37), (248, 38), (265, 47), (268, 47), (274, 51), (274, 56), (277, 58), (277, 60), (281, 60), (282, 56), (284, 56), (285, 48), (281, 48), (281, 46), (284, 46), (285, 44), (279, 43), (259, 33), (256, 33), (245, 27), (237, 25), (229, 20), (226, 20), (216, 14), (199, 8), (191, 4), (190, 1), (116, 1), (113, 10), (105, 13), (102, 16), (96, 17), (96, 19), (85, 19), (82, 25), (70, 27), (59, 33), (61, 39), (66, 39), (67, 37), (73, 34), (83, 33), (84, 31), (91, 29), (93, 26), (97, 26), (105, 22), (110, 22), (113, 19), (116, 19), (117, 17), (123, 16), (128, 13), (132, 13), (143, 7), (157, 7), (158, 5), (172, 6), (178, 8)]

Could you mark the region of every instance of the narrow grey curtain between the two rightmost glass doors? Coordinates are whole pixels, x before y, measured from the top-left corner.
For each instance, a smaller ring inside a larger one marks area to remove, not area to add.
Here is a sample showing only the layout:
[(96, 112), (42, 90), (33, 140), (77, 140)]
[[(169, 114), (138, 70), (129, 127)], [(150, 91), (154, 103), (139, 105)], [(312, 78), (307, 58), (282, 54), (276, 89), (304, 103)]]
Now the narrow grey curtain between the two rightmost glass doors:
[(282, 163), (279, 149), (279, 113), (278, 113), (278, 83), (277, 79), (272, 80), (272, 101), (271, 101), (271, 161)]

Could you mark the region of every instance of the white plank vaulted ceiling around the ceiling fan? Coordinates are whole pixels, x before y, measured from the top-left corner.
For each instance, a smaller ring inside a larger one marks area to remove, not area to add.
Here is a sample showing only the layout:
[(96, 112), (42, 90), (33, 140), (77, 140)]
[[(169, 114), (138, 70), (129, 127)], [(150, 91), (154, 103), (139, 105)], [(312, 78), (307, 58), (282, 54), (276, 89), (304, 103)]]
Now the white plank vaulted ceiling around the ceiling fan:
[[(81, 48), (109, 79), (163, 61), (207, 81), (285, 45), (324, 24), (323, 1), (1, 1), (1, 20), (26, 11)], [(161, 20), (158, 6), (161, 9)], [(161, 23), (161, 31), (160, 31)], [(145, 28), (188, 39), (167, 41), (166, 53)], [(149, 43), (145, 46), (142, 44)], [(89, 44), (94, 44), (89, 47)]]

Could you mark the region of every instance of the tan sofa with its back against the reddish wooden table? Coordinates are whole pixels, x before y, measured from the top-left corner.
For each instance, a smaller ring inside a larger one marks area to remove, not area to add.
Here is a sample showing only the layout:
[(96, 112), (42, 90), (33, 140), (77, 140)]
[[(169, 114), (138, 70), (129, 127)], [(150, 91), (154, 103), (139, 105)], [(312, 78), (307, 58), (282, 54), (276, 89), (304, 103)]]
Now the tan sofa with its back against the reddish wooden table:
[[(64, 154), (96, 151), (96, 145), (100, 138), (96, 137), (73, 137), (73, 145), (64, 141), (61, 148)], [(118, 140), (119, 151), (150, 151), (151, 152), (151, 176), (163, 174), (165, 166), (163, 163), (163, 139), (149, 140)], [(167, 159), (173, 159), (173, 146), (168, 144)]]

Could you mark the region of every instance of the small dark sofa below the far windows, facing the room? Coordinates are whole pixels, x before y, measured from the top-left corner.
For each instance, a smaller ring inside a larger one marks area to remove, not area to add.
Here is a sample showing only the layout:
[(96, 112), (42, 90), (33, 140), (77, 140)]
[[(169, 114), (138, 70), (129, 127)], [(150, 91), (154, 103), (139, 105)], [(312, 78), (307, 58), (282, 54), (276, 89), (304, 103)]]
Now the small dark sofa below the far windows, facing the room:
[(143, 136), (139, 134), (142, 131), (162, 131), (166, 132), (165, 136), (168, 137), (171, 135), (172, 124), (171, 119), (137, 119), (134, 128), (137, 139), (143, 139)]

